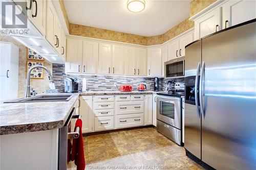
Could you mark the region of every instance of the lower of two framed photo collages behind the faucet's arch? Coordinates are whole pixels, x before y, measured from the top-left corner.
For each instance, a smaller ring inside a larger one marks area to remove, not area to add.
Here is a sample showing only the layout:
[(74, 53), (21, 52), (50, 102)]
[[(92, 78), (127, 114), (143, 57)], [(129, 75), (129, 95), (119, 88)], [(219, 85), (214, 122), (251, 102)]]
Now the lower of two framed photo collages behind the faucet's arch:
[[(27, 66), (26, 66), (26, 75), (28, 74), (29, 68), (35, 66), (35, 65), (45, 65), (44, 61), (35, 61), (35, 60), (27, 60)], [(30, 73), (31, 79), (44, 79), (44, 71), (42, 68), (35, 68)]]

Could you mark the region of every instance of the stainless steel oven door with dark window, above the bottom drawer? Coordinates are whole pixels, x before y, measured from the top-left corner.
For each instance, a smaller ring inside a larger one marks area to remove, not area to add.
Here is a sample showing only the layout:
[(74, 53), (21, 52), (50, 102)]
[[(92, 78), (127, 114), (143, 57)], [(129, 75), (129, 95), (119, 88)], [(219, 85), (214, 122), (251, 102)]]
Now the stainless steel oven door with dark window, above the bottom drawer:
[(157, 95), (157, 119), (181, 129), (180, 98)]

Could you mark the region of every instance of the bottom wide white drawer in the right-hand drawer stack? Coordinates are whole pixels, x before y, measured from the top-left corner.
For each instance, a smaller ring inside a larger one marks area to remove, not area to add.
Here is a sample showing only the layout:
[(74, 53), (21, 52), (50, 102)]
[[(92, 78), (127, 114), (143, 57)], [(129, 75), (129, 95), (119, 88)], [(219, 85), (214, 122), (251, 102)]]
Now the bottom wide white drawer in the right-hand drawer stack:
[(115, 117), (115, 127), (125, 128), (141, 126), (143, 124), (143, 113), (140, 114), (129, 114), (129, 115), (117, 115)]

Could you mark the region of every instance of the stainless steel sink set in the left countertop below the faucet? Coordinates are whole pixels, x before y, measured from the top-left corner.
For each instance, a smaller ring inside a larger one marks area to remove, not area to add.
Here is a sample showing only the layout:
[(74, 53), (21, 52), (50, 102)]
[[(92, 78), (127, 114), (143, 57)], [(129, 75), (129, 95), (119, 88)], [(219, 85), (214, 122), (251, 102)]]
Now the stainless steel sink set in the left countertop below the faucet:
[(72, 98), (73, 94), (42, 94), (34, 96), (32, 98), (21, 98), (4, 103), (25, 103), (25, 102), (58, 102), (58, 101), (69, 101)]

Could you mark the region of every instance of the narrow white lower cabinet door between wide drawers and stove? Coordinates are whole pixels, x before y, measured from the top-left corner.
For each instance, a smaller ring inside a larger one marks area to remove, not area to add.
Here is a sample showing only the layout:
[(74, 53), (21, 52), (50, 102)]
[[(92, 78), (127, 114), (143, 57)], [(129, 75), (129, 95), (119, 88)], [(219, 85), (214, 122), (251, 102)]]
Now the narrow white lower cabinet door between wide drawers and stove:
[(152, 94), (145, 95), (144, 125), (152, 125)]

